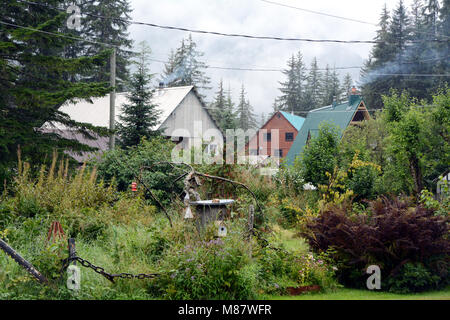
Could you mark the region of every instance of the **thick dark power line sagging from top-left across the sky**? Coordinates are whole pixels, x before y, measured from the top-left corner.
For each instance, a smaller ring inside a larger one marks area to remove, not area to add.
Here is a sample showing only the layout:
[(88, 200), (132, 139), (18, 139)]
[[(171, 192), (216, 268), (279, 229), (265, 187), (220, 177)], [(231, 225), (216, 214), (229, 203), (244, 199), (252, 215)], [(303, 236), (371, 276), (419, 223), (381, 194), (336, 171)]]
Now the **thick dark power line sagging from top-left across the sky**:
[[(26, 0), (17, 0), (17, 1), (22, 2), (22, 3), (31, 4), (31, 5), (44, 6), (44, 7), (50, 8), (50, 9), (66, 12), (65, 9), (54, 7), (54, 6), (51, 6), (48, 4), (37, 3), (37, 2), (26, 1)], [(273, 37), (273, 36), (255, 36), (255, 35), (248, 35), (248, 34), (223, 33), (223, 32), (216, 32), (216, 31), (190, 29), (190, 28), (184, 28), (184, 27), (165, 26), (165, 25), (160, 25), (160, 24), (150, 23), (150, 22), (141, 22), (141, 21), (134, 21), (134, 20), (126, 20), (126, 19), (122, 19), (122, 18), (105, 17), (105, 16), (96, 15), (96, 14), (92, 14), (92, 13), (84, 13), (84, 14), (87, 16), (92, 16), (92, 17), (99, 18), (99, 19), (120, 21), (120, 22), (124, 22), (124, 23), (135, 24), (135, 25), (144, 25), (144, 26), (153, 27), (153, 28), (160, 28), (160, 29), (166, 29), (166, 30), (177, 30), (177, 31), (183, 31), (183, 32), (199, 33), (199, 34), (210, 34), (210, 35), (224, 36), (224, 37), (238, 37), (238, 38), (257, 39), (257, 40), (300, 41), (300, 42), (315, 42), (315, 43), (344, 43), (344, 44), (376, 44), (376, 43), (384, 43), (385, 42), (385, 41), (377, 41), (377, 40), (337, 40), (337, 39), (308, 39), (308, 38), (286, 38), (286, 37)], [(437, 39), (431, 39), (429, 41), (443, 42), (443, 40), (437, 40)]]

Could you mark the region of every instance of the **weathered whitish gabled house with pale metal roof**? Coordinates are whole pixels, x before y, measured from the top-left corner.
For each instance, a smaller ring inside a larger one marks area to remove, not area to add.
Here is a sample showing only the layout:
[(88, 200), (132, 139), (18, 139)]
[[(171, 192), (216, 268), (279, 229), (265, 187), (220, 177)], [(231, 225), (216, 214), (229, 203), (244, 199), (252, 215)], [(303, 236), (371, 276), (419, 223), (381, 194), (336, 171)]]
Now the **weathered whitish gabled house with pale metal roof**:
[[(127, 93), (117, 93), (115, 101), (115, 118), (120, 121), (122, 105), (127, 103)], [(206, 146), (209, 151), (217, 151), (222, 147), (223, 133), (208, 112), (204, 102), (193, 86), (160, 87), (155, 90), (152, 102), (161, 111), (160, 129), (164, 136), (176, 142), (180, 148)], [(90, 123), (94, 126), (109, 128), (109, 95), (93, 98), (92, 103), (86, 100), (68, 103), (60, 111), (68, 114), (77, 122)], [(46, 123), (45, 131), (58, 132), (65, 138), (75, 139), (87, 145), (105, 151), (108, 148), (108, 137), (97, 140), (84, 139), (79, 133), (65, 128), (58, 123)], [(83, 162), (92, 153), (72, 154), (76, 160)]]

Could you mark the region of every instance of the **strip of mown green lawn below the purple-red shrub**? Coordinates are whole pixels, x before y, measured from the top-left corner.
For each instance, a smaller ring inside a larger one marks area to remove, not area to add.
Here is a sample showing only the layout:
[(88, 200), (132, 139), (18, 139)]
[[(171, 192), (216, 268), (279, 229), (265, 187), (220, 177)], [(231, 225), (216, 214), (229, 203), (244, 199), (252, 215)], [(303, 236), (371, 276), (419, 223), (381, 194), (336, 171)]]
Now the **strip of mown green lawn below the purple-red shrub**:
[(450, 300), (450, 287), (441, 291), (416, 294), (394, 294), (357, 289), (338, 289), (331, 293), (309, 293), (299, 296), (263, 296), (264, 300)]

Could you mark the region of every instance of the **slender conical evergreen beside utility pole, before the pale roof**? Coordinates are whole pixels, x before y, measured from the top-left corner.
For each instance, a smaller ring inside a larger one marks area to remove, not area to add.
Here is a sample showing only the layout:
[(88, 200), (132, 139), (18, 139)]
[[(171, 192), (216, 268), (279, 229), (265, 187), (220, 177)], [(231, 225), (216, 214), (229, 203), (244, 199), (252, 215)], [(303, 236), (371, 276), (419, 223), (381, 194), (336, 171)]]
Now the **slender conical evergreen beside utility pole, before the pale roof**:
[(160, 134), (155, 130), (160, 111), (151, 101), (155, 90), (150, 89), (152, 75), (147, 67), (151, 50), (145, 42), (140, 47), (138, 60), (134, 61), (137, 70), (129, 84), (129, 103), (122, 105), (121, 121), (117, 124), (120, 144), (127, 147), (139, 144), (143, 137), (152, 138)]

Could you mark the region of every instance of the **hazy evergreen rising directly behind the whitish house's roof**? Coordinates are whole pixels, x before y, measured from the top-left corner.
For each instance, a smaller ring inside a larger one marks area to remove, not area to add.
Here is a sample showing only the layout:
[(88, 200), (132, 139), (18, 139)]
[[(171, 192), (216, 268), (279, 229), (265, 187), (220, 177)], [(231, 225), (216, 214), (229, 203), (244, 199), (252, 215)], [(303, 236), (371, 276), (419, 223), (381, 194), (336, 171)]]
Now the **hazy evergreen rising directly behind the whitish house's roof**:
[[(203, 71), (207, 65), (200, 59), (204, 53), (197, 50), (197, 44), (189, 35), (181, 41), (175, 52), (171, 51), (165, 65), (162, 82), (169, 87), (195, 86), (209, 90), (210, 78)], [(204, 95), (201, 95), (204, 98)]]

